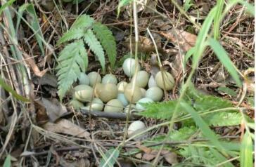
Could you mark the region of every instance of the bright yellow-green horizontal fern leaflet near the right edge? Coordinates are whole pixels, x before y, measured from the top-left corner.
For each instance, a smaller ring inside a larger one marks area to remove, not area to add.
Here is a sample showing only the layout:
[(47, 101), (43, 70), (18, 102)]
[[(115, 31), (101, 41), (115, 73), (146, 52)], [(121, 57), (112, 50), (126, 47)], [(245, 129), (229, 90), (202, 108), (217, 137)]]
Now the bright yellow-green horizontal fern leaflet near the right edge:
[(218, 112), (204, 118), (209, 126), (238, 126), (242, 116), (239, 112)]

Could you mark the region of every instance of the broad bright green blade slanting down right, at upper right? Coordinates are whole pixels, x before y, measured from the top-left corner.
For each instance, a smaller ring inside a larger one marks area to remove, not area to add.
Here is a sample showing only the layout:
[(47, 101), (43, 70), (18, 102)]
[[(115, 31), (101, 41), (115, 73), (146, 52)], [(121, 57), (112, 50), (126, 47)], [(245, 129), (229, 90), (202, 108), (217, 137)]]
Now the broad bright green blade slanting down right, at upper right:
[(229, 72), (229, 74), (231, 74), (233, 79), (236, 81), (236, 84), (238, 86), (241, 86), (242, 83), (239, 79), (237, 69), (231, 62), (229, 55), (227, 55), (224, 48), (215, 39), (209, 39), (209, 44), (210, 44), (212, 50), (215, 51), (215, 54), (219, 58), (219, 61), (222, 62), (222, 65), (224, 65), (224, 67), (226, 67), (226, 70)]

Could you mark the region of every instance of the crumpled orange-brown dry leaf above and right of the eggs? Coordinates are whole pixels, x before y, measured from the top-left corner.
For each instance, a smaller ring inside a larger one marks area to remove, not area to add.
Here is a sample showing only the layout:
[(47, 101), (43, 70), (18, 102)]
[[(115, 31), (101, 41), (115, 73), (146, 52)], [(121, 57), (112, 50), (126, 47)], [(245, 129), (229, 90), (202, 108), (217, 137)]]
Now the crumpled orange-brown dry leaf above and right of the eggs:
[[(175, 32), (177, 36), (175, 35)], [(184, 30), (179, 29), (170, 29), (167, 33), (160, 32), (163, 36), (167, 39), (174, 42), (177, 45), (177, 41), (179, 41), (179, 47), (184, 51), (187, 52), (196, 44), (196, 35), (186, 32)]]

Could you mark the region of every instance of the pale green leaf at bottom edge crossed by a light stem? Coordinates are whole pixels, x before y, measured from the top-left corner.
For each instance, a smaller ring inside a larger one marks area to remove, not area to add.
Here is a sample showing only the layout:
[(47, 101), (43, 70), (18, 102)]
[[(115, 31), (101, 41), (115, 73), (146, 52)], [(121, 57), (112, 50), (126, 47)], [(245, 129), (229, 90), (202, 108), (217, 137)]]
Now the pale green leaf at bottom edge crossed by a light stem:
[(120, 152), (118, 149), (111, 148), (105, 154), (103, 154), (100, 166), (105, 167), (105, 166), (114, 166), (115, 162), (117, 161), (117, 158), (119, 156)]

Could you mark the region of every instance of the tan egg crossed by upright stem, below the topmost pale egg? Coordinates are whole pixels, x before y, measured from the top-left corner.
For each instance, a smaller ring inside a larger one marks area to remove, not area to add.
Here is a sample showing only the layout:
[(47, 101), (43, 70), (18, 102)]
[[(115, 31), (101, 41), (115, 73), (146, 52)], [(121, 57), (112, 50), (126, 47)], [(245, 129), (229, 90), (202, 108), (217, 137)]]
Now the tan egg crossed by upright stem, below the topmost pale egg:
[(128, 83), (124, 89), (124, 96), (131, 103), (137, 102), (142, 98), (141, 88), (139, 86), (134, 86), (134, 95), (132, 95), (132, 83)]

